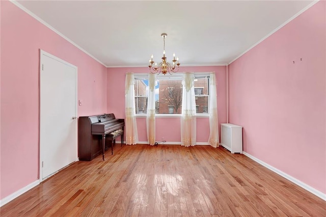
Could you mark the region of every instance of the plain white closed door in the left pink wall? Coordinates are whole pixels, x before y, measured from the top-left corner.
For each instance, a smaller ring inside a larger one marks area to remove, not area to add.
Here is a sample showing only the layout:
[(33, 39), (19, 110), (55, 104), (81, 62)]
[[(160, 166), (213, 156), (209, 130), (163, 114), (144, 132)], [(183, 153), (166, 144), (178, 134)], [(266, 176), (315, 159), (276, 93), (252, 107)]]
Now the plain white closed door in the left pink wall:
[(77, 159), (77, 67), (40, 50), (40, 180)]

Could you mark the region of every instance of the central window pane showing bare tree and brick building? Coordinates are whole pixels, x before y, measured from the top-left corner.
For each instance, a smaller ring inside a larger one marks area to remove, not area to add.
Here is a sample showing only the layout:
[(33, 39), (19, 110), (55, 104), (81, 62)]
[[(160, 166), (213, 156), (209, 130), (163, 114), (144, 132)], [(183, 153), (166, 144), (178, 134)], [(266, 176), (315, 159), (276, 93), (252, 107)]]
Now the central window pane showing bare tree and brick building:
[(182, 81), (159, 80), (158, 114), (181, 114)]

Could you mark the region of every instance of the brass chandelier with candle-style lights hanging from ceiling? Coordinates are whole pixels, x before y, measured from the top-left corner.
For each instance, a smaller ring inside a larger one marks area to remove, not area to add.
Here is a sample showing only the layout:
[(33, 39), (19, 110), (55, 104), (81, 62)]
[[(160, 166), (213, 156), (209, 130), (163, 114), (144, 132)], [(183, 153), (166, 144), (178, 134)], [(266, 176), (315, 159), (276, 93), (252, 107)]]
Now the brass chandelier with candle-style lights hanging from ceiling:
[[(165, 57), (165, 38), (168, 36), (168, 34), (166, 33), (162, 33), (161, 37), (163, 38), (163, 57), (162, 57), (162, 62), (160, 62), (158, 65), (156, 62), (153, 61), (153, 55), (151, 56), (151, 59), (149, 59), (149, 71), (153, 74), (157, 73), (157, 74), (166, 74), (169, 72), (169, 74), (172, 74), (171, 72), (177, 72), (179, 71), (179, 58), (175, 58), (175, 53), (173, 53), (173, 60), (172, 60), (172, 64), (170, 64), (169, 62), (167, 62), (167, 58)], [(153, 65), (153, 63), (155, 63)]]

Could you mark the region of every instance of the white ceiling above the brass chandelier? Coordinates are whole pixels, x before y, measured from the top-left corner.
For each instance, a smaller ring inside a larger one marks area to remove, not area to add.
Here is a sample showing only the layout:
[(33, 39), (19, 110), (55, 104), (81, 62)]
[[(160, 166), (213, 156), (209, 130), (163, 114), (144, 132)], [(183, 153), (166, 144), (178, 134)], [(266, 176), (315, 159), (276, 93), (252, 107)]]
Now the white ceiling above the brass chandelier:
[(18, 1), (107, 67), (168, 61), (219, 65), (276, 30), (313, 1)]

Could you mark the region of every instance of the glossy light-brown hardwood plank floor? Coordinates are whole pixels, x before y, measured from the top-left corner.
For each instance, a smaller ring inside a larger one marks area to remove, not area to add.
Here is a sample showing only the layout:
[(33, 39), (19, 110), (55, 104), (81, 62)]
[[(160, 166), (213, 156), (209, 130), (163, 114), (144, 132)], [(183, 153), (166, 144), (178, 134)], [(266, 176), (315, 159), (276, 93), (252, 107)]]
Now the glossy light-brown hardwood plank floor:
[(1, 216), (326, 216), (326, 202), (241, 154), (116, 145), (1, 207)]

